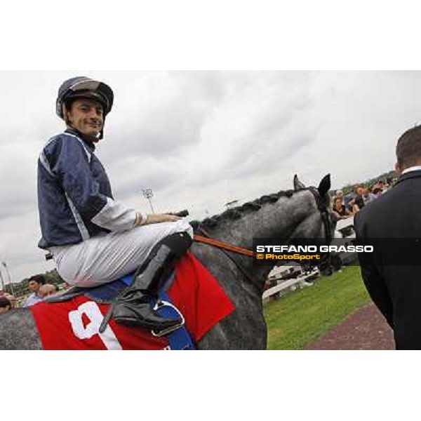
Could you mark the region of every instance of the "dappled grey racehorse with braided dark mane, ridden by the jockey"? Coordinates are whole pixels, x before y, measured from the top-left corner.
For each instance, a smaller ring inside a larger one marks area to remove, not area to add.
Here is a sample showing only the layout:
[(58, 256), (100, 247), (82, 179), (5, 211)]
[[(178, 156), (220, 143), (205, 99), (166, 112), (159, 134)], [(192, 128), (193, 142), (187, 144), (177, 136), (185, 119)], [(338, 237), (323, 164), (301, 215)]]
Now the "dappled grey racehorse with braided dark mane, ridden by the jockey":
[[(329, 210), (329, 189), (329, 175), (317, 189), (306, 188), (295, 175), (293, 190), (229, 209), (203, 220), (196, 229), (199, 234), (206, 232), (214, 239), (248, 249), (253, 247), (253, 237), (276, 239), (279, 244), (294, 238), (323, 242), (331, 239), (335, 229)], [(191, 251), (235, 305), (234, 312), (211, 328), (196, 344), (197, 348), (266, 349), (262, 293), (272, 267), (253, 267), (253, 258), (245, 255), (235, 255), (234, 262), (219, 248), (203, 243), (195, 242)], [(0, 316), (0, 349), (41, 349), (30, 310), (15, 309)]]

